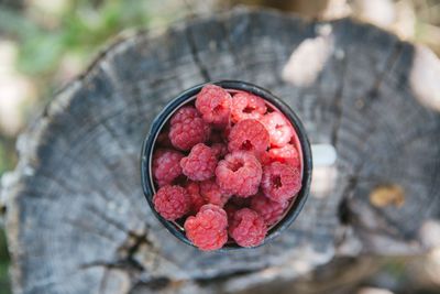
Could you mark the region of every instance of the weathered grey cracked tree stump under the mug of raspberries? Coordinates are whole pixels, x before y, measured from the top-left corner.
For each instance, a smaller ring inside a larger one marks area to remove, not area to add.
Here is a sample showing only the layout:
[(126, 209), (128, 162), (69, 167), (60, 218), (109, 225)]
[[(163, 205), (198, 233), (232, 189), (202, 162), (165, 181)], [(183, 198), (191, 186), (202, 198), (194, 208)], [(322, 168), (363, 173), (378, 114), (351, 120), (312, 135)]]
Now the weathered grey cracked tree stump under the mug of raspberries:
[[(338, 257), (439, 246), (437, 73), (429, 51), (349, 19), (238, 9), (119, 40), (20, 137), (2, 181), (15, 293), (245, 292)], [(152, 119), (182, 90), (220, 79), (272, 90), (311, 143), (339, 154), (317, 168), (288, 231), (244, 252), (182, 243), (140, 184)]]

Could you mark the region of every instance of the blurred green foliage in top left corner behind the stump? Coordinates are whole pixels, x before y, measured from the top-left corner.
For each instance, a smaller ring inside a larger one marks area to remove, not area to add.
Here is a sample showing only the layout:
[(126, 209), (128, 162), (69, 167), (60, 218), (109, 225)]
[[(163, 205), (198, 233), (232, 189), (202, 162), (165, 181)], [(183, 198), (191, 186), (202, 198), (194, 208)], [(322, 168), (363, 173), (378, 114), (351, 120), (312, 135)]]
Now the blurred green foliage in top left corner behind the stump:
[[(40, 18), (0, 10), (0, 28), (20, 44), (18, 68), (28, 75), (51, 75), (66, 53), (89, 59), (110, 36), (127, 28), (144, 26), (148, 2), (136, 0), (69, 1), (59, 15)], [(38, 11), (35, 11), (37, 14)]]

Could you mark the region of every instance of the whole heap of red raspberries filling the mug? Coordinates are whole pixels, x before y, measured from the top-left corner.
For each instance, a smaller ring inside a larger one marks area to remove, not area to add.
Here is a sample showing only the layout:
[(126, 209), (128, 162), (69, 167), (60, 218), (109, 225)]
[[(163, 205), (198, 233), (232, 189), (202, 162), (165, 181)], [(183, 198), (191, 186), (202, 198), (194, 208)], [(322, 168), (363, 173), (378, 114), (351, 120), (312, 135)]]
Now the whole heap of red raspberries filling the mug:
[(206, 85), (157, 138), (154, 207), (200, 250), (256, 247), (301, 188), (297, 142), (262, 98)]

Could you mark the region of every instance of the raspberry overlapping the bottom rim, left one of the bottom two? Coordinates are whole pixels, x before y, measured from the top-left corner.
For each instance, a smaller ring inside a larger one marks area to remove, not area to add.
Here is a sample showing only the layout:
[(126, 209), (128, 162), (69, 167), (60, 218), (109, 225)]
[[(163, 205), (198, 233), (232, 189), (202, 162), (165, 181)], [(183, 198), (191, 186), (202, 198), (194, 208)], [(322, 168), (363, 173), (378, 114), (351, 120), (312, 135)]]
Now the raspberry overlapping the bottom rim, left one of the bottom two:
[(227, 213), (216, 205), (204, 205), (195, 217), (186, 219), (184, 227), (188, 239), (205, 251), (220, 249), (228, 241)]

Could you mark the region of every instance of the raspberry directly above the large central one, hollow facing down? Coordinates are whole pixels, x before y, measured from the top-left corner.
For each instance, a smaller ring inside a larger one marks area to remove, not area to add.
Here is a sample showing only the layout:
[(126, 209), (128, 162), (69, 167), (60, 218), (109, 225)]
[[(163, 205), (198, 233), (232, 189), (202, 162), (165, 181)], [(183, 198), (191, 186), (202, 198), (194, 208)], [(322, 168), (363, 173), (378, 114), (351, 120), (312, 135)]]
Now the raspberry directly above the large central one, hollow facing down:
[(229, 133), (229, 151), (250, 151), (260, 157), (268, 148), (270, 135), (264, 126), (253, 119), (239, 121)]

